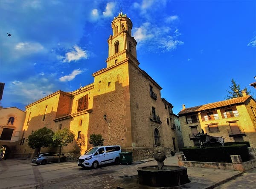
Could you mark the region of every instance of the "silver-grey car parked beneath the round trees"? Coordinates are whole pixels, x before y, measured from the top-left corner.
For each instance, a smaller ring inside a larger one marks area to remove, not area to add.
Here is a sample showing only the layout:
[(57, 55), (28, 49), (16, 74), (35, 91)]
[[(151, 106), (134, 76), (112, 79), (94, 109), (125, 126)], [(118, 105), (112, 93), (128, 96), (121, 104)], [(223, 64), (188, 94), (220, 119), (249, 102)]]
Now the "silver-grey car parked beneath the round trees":
[[(34, 157), (32, 159), (32, 163), (36, 163), (38, 165), (44, 165), (50, 162), (58, 162), (59, 155), (57, 153), (43, 153), (40, 154), (38, 157)], [(61, 154), (61, 161), (66, 161), (66, 156)]]

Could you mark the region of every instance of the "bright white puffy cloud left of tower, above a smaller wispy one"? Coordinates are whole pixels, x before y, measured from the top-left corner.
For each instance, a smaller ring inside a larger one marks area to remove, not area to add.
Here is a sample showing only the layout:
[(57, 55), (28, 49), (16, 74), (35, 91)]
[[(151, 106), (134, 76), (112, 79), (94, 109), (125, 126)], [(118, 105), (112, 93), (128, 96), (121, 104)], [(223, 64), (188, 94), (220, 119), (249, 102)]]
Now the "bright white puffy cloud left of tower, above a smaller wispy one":
[[(63, 62), (70, 63), (71, 61), (77, 61), (82, 58), (85, 58), (85, 59), (88, 58), (87, 51), (83, 51), (79, 46), (73, 46), (73, 49), (75, 51), (67, 52), (65, 54), (65, 59), (63, 60)], [(60, 57), (58, 57), (58, 58), (60, 58)]]

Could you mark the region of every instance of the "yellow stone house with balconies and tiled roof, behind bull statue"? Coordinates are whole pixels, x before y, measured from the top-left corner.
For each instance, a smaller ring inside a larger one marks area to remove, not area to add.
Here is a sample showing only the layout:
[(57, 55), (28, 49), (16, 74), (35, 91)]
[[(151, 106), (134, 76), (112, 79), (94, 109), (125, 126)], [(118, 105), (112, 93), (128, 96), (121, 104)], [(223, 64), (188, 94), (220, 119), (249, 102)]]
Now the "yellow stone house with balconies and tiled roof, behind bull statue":
[(198, 146), (195, 135), (225, 136), (225, 142), (249, 141), (256, 147), (256, 101), (242, 97), (183, 109), (178, 113), (184, 146)]

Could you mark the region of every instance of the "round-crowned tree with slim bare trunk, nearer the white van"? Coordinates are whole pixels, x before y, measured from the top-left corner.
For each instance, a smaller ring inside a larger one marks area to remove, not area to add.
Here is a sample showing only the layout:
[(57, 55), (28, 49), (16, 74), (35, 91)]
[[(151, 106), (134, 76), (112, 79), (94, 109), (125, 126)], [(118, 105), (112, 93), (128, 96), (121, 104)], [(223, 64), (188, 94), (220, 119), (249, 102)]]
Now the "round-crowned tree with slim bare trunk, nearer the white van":
[(67, 146), (69, 143), (72, 143), (73, 140), (75, 139), (75, 134), (70, 131), (67, 128), (60, 129), (57, 132), (54, 133), (53, 137), (53, 142), (56, 146), (59, 146), (59, 160), (58, 162), (61, 162), (61, 149), (62, 146)]

